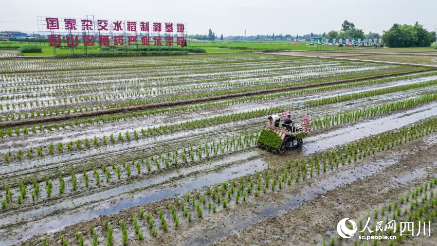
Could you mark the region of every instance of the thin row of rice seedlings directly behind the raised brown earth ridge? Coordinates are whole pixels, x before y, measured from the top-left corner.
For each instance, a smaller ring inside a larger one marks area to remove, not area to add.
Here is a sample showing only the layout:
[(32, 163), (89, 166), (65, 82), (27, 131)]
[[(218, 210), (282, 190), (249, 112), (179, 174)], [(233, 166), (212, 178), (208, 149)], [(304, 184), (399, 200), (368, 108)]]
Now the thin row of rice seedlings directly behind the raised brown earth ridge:
[[(376, 74), (371, 74), (369, 76), (377, 76), (377, 75), (384, 75), (387, 74), (387, 72), (380, 72), (380, 73), (376, 73)], [(362, 75), (356, 75), (356, 76), (344, 76), (344, 78), (346, 79), (353, 79), (353, 78), (362, 78)], [(363, 78), (362, 78), (363, 79)], [(333, 79), (330, 78), (327, 81), (332, 81)], [(341, 78), (339, 78), (339, 80), (341, 80)], [(203, 93), (193, 93), (193, 94), (186, 94), (186, 95), (175, 95), (175, 96), (169, 96), (169, 97), (155, 97), (155, 98), (147, 98), (147, 99), (136, 99), (136, 100), (124, 100), (124, 101), (119, 101), (119, 102), (107, 102), (105, 103), (105, 106), (98, 104), (95, 106), (79, 106), (79, 107), (74, 107), (72, 108), (67, 108), (67, 109), (58, 109), (60, 114), (70, 114), (71, 112), (73, 113), (77, 113), (77, 112), (82, 112), (82, 111), (93, 111), (93, 110), (102, 110), (102, 109), (110, 109), (110, 108), (119, 108), (119, 107), (128, 107), (128, 106), (136, 106), (139, 104), (149, 104), (149, 103), (160, 103), (160, 102), (165, 102), (165, 101), (179, 101), (179, 100), (189, 100), (189, 99), (195, 99), (195, 98), (203, 98), (203, 97), (212, 97), (212, 96), (222, 96), (222, 95), (229, 95), (229, 94), (235, 94), (235, 93), (247, 93), (247, 92), (253, 92), (253, 91), (262, 91), (262, 90), (269, 90), (269, 89), (277, 89), (279, 87), (288, 87), (288, 86), (296, 86), (296, 85), (303, 85), (303, 84), (311, 84), (311, 83), (319, 83), (320, 81), (303, 81), (303, 82), (290, 82), (290, 83), (281, 83), (281, 84), (267, 84), (267, 85), (261, 85), (261, 86), (252, 86), (252, 87), (243, 87), (243, 88), (239, 88), (239, 89), (232, 89), (232, 90), (218, 90), (218, 91), (211, 91), (211, 92), (203, 92)], [(422, 86), (426, 86), (426, 85), (422, 85)], [(413, 87), (409, 88), (409, 89), (413, 89)], [(383, 89), (381, 89), (383, 90)], [(407, 90), (407, 89), (400, 89), (398, 88), (398, 90)], [(388, 93), (389, 91), (387, 91), (386, 93)], [(390, 91), (392, 92), (392, 91)], [(381, 92), (382, 93), (382, 92)], [(361, 95), (363, 96), (363, 95)], [(343, 98), (344, 100), (345, 98)], [(350, 98), (353, 99), (353, 98)], [(310, 101), (309, 103), (316, 103), (315, 101)], [(319, 102), (320, 103), (320, 102)], [(35, 115), (35, 112), (33, 112), (33, 116)], [(30, 115), (32, 115), (32, 112), (30, 112)], [(28, 112), (26, 112), (28, 113)], [(46, 113), (46, 115), (44, 115), (44, 113)], [(51, 115), (51, 114), (47, 114), (49, 112), (47, 112), (46, 110), (41, 111), (37, 111), (36, 115), (37, 116), (42, 116), (42, 114), (44, 116), (47, 115)], [(29, 114), (29, 113), (28, 113)], [(52, 111), (53, 114), (53, 111)], [(0, 117), (0, 121), (2, 120), (3, 117)], [(8, 120), (14, 120), (15, 119), (15, 114), (7, 114), (4, 116), (5, 121)]]

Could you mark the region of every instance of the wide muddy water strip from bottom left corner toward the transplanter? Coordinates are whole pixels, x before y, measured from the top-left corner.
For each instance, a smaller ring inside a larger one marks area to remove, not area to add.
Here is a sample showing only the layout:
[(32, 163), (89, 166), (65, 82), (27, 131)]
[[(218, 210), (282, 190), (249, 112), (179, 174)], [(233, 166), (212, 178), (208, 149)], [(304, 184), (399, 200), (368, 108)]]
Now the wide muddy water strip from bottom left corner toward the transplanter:
[[(249, 154), (253, 155), (252, 154)], [(104, 203), (99, 204), (97, 207), (94, 207), (90, 210), (82, 211), (81, 213), (71, 212), (68, 214), (63, 214), (61, 216), (54, 217), (46, 217), (44, 219), (29, 222), (26, 224), (26, 227), (21, 229), (13, 230), (13, 235), (10, 236), (9, 232), (5, 230), (0, 230), (0, 235), (2, 236), (3, 243), (2, 245), (11, 245), (20, 241), (27, 240), (34, 235), (41, 234), (42, 232), (54, 232), (63, 229), (65, 226), (79, 223), (84, 220), (89, 220), (93, 218), (97, 218), (100, 215), (108, 215), (119, 212), (121, 209), (132, 206), (139, 206), (142, 204), (159, 201), (163, 198), (172, 197), (175, 195), (182, 195), (186, 192), (189, 192), (194, 189), (201, 189), (208, 185), (213, 185), (215, 183), (224, 182), (228, 179), (238, 178), (248, 173), (251, 173), (255, 170), (263, 170), (267, 168), (267, 165), (261, 160), (256, 159), (248, 162), (244, 162), (240, 165), (236, 165), (227, 169), (222, 170), (220, 173), (209, 173), (206, 175), (200, 175), (199, 177), (185, 179), (183, 185), (177, 187), (167, 187), (165, 189), (160, 188), (152, 188), (147, 190), (142, 190), (135, 195), (125, 194), (124, 196), (120, 196), (117, 193), (119, 190), (129, 190), (130, 188), (139, 188), (139, 186), (143, 185), (151, 185), (154, 182), (162, 182), (168, 178), (175, 177), (178, 175), (183, 175), (189, 173), (188, 170), (181, 171), (179, 173), (171, 173), (166, 175), (165, 177), (160, 177), (154, 179), (153, 181), (143, 181), (140, 183), (129, 185), (131, 187), (117, 187), (114, 189), (110, 189), (99, 194), (94, 194), (92, 197), (79, 198), (78, 200), (84, 200), (82, 203), (86, 204), (90, 201), (98, 201), (102, 199), (102, 197), (110, 197), (112, 199), (105, 201)], [(192, 170), (191, 170), (192, 171)], [(77, 201), (78, 202), (78, 201)], [(69, 203), (69, 204), (68, 204)], [(63, 206), (65, 208), (74, 206), (77, 203), (74, 201), (65, 201), (56, 206), (41, 208), (40, 212), (37, 214), (49, 213), (53, 212), (53, 210), (62, 209)], [(33, 216), (35, 211), (27, 212), (25, 215), (17, 215), (14, 218), (21, 218), (22, 216)], [(8, 223), (8, 218), (0, 219), (0, 222)], [(20, 237), (16, 237), (15, 233), (20, 234)]]

